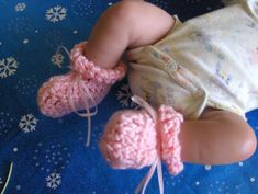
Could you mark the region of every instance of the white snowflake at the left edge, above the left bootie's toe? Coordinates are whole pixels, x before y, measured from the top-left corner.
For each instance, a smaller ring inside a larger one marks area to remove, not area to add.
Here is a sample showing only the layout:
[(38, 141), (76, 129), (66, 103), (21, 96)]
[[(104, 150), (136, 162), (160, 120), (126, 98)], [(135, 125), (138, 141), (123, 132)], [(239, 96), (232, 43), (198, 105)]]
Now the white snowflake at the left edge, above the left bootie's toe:
[(16, 72), (18, 61), (13, 57), (0, 60), (0, 78), (7, 78)]

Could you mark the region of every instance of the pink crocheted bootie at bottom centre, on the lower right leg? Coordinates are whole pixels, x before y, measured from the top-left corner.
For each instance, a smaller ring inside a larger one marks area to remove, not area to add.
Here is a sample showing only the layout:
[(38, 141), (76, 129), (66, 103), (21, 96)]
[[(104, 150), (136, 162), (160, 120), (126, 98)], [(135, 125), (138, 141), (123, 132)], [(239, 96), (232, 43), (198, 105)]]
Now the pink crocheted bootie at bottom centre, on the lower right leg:
[(183, 169), (179, 141), (183, 117), (171, 106), (138, 111), (119, 111), (105, 125), (100, 150), (116, 169), (139, 169), (164, 160), (171, 174)]

